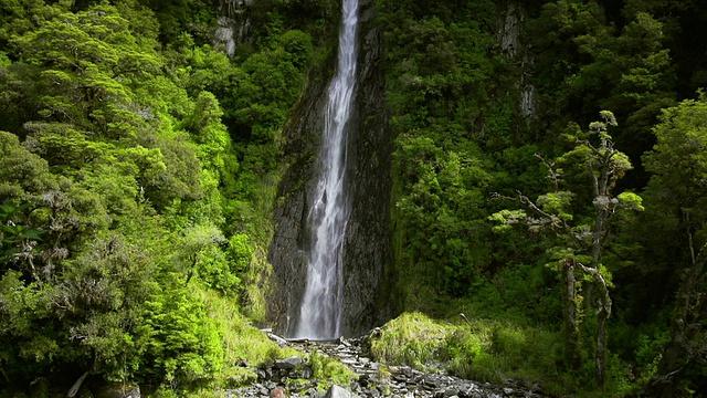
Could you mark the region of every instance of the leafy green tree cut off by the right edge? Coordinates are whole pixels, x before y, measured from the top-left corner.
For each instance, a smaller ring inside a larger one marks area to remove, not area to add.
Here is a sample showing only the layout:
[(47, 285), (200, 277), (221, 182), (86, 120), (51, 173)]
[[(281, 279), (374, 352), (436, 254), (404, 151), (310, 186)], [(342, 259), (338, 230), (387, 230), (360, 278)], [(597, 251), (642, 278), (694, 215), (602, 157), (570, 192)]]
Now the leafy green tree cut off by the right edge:
[[(653, 132), (657, 143), (646, 153), (653, 172), (645, 189), (646, 221), (662, 230), (648, 247), (675, 253), (669, 259), (679, 285), (671, 323), (671, 341), (658, 364), (656, 394), (672, 396), (695, 388), (707, 360), (707, 96), (686, 100), (663, 112)], [(666, 259), (667, 260), (667, 259)], [(665, 266), (665, 265), (664, 265)], [(704, 384), (703, 384), (704, 387)]]

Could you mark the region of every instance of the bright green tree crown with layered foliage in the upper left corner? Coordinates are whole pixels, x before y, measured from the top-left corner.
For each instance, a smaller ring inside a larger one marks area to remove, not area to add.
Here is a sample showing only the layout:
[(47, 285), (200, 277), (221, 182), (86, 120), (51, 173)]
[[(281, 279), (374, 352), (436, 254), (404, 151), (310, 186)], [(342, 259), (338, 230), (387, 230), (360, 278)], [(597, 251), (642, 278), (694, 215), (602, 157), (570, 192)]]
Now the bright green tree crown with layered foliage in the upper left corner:
[(136, 135), (145, 115), (134, 108), (129, 85), (154, 74), (159, 60), (114, 7), (61, 13), (11, 42), (23, 62), (42, 67), (45, 121), (110, 138)]

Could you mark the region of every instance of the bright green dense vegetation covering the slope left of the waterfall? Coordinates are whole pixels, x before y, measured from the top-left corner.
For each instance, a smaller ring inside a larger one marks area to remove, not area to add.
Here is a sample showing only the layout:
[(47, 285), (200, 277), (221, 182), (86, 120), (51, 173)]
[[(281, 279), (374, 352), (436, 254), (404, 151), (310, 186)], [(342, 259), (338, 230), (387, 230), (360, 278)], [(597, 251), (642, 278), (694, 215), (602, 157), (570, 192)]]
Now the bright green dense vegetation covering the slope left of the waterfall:
[(245, 316), (325, 6), (258, 9), (229, 59), (211, 2), (0, 2), (2, 394), (88, 371), (168, 395), (286, 354)]

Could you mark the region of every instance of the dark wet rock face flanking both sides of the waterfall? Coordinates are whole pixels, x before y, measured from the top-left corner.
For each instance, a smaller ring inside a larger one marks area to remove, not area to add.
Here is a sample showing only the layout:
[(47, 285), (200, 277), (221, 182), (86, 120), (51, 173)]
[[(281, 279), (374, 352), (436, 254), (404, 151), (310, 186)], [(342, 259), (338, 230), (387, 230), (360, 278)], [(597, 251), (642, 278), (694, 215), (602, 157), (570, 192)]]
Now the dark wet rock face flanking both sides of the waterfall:
[[(351, 211), (344, 245), (341, 333), (361, 335), (389, 318), (381, 303), (384, 268), (390, 259), (390, 164), (392, 137), (387, 130), (381, 33), (372, 0), (359, 4), (359, 64), (355, 107), (347, 132), (347, 191)], [(331, 70), (336, 60), (327, 63)], [(333, 71), (314, 71), (307, 93), (286, 129), (289, 168), (278, 186), (275, 235), (268, 259), (274, 266), (270, 317), (286, 336), (296, 329), (307, 275), (307, 214), (317, 184), (316, 156), (324, 130), (326, 88)]]

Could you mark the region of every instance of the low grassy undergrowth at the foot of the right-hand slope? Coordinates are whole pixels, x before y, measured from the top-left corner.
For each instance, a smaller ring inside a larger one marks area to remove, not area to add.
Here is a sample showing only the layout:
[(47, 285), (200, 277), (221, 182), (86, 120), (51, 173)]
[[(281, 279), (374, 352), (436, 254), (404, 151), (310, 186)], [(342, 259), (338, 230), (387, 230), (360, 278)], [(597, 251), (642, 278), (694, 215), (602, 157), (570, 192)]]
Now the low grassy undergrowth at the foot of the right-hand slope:
[(587, 347), (582, 367), (571, 370), (566, 363), (560, 332), (517, 325), (502, 320), (433, 321), (420, 313), (405, 313), (371, 336), (376, 360), (429, 370), (442, 365), (457, 377), (503, 384), (513, 378), (531, 387), (539, 383), (544, 394), (583, 397), (620, 397), (632, 388), (616, 356), (610, 358), (609, 380), (600, 390), (593, 379), (593, 360)]

